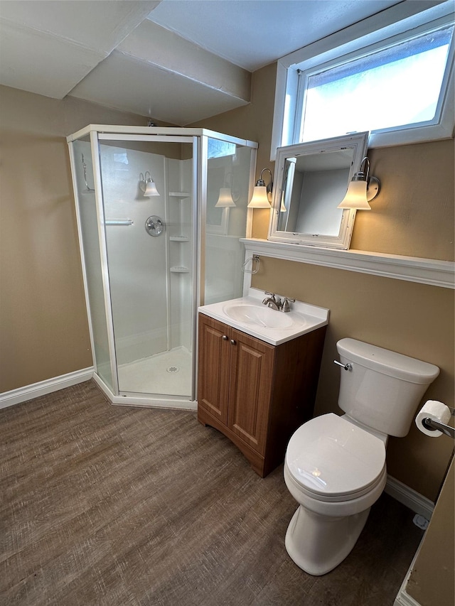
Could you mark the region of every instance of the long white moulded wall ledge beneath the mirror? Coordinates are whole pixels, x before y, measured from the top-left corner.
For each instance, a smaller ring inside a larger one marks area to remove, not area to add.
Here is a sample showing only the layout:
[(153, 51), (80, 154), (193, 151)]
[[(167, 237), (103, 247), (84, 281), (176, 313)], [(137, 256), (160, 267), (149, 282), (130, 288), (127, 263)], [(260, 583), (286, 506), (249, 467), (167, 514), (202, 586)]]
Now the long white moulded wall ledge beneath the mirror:
[(300, 261), (312, 265), (358, 271), (361, 274), (418, 282), (429, 286), (455, 288), (454, 261), (360, 250), (323, 249), (301, 244), (269, 242), (269, 240), (257, 238), (242, 238), (240, 242), (245, 244), (245, 259), (250, 258), (253, 254), (258, 254), (286, 261)]

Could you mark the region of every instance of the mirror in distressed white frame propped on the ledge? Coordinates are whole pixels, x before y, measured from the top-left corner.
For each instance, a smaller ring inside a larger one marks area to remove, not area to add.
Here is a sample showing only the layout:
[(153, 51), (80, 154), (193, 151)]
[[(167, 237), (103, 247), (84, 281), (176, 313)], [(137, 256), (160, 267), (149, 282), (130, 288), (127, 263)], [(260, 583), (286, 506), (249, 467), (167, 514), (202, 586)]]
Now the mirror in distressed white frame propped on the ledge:
[(348, 249), (355, 210), (337, 206), (367, 148), (368, 132), (279, 147), (268, 239)]

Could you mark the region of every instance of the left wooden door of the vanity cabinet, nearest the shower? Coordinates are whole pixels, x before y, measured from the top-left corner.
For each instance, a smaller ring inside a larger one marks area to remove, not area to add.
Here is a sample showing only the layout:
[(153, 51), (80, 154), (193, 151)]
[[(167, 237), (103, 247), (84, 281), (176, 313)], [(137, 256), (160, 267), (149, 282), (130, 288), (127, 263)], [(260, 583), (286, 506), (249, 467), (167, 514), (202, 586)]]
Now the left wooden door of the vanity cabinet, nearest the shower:
[(198, 406), (228, 423), (230, 327), (199, 315)]

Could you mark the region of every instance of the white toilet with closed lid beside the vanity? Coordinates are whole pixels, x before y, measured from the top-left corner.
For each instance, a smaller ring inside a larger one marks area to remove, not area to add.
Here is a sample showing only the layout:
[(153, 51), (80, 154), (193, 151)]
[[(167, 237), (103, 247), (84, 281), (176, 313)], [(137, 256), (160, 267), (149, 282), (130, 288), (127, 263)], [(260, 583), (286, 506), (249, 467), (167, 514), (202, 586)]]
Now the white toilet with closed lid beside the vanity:
[(389, 435), (408, 433), (434, 364), (355, 339), (337, 345), (338, 406), (345, 414), (312, 418), (292, 435), (284, 481), (299, 507), (285, 546), (311, 575), (336, 568), (350, 553), (387, 480)]

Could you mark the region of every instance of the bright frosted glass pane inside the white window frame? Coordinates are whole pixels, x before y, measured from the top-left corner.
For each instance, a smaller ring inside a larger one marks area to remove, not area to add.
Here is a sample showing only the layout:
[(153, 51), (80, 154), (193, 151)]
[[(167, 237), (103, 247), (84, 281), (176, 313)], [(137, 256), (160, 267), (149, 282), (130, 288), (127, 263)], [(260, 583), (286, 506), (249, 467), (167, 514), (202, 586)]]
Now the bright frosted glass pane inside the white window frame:
[(299, 142), (439, 121), (453, 33), (454, 26), (441, 28), (346, 63), (300, 72)]

